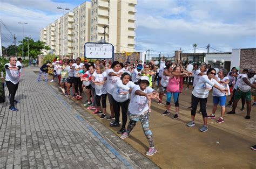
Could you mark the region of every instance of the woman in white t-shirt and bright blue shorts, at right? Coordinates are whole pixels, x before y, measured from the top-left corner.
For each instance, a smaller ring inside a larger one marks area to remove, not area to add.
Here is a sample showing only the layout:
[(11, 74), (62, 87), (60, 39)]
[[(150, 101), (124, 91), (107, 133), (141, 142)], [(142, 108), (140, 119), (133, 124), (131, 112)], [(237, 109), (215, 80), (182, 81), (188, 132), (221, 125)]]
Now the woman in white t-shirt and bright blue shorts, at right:
[[(220, 85), (223, 85), (225, 88), (228, 86), (228, 83), (230, 82), (230, 79), (227, 77), (227, 70), (226, 69), (219, 69), (218, 75), (215, 76), (215, 80), (220, 83)], [(218, 104), (220, 104), (221, 107), (221, 116), (218, 119), (218, 123), (224, 122), (224, 113), (225, 113), (225, 104), (226, 104), (226, 94), (220, 92), (220, 90), (213, 88), (212, 89), (212, 95), (213, 95), (213, 108), (212, 108), (212, 114), (208, 116), (208, 118), (215, 119), (215, 112), (217, 110)]]

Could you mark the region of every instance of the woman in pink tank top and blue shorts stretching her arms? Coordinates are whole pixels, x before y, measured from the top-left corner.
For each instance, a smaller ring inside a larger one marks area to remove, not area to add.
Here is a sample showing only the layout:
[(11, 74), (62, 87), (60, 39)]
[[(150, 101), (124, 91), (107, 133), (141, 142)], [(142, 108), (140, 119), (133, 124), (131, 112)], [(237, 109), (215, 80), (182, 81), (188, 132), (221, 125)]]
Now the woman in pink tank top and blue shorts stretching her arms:
[(171, 76), (169, 78), (169, 82), (167, 85), (167, 93), (166, 93), (166, 111), (162, 113), (162, 115), (170, 115), (171, 108), (171, 97), (173, 95), (173, 100), (175, 104), (176, 113), (172, 117), (173, 119), (179, 118), (179, 85), (182, 77), (188, 76), (191, 72), (180, 73), (180, 66), (176, 66), (173, 68)]

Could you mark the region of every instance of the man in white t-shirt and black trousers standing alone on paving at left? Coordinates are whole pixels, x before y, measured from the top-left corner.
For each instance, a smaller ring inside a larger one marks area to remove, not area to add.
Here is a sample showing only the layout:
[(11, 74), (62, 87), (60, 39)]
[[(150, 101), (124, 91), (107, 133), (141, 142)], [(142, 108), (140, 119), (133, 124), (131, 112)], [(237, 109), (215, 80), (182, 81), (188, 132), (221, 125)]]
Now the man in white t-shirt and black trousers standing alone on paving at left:
[(19, 103), (19, 101), (14, 100), (16, 91), (19, 86), (19, 70), (21, 66), (16, 66), (16, 58), (11, 56), (9, 58), (9, 63), (4, 65), (5, 67), (5, 83), (9, 90), (10, 108), (9, 110), (18, 111), (15, 108), (14, 103)]

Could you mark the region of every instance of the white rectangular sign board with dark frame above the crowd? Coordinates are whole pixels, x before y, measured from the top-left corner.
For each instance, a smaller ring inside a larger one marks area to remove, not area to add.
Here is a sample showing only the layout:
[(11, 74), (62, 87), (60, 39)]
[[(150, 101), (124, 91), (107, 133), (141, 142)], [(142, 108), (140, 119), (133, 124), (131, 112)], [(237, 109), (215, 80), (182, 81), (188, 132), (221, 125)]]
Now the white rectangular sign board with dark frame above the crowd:
[(84, 50), (84, 58), (111, 59), (114, 56), (114, 47), (112, 44), (85, 43)]

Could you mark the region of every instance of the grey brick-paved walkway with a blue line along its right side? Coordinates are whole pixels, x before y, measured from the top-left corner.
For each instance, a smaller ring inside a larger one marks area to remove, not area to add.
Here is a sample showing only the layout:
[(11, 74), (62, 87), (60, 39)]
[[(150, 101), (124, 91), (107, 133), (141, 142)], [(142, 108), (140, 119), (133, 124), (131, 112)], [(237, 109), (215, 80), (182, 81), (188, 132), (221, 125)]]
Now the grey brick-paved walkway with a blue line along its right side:
[(19, 111), (0, 103), (0, 168), (158, 168), (33, 71), (23, 69)]

